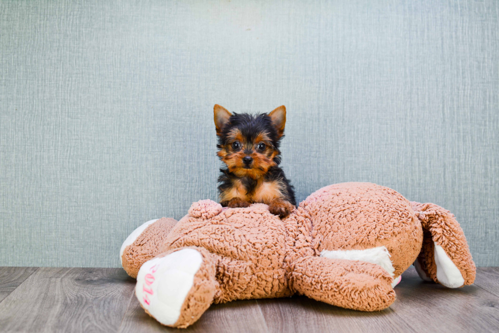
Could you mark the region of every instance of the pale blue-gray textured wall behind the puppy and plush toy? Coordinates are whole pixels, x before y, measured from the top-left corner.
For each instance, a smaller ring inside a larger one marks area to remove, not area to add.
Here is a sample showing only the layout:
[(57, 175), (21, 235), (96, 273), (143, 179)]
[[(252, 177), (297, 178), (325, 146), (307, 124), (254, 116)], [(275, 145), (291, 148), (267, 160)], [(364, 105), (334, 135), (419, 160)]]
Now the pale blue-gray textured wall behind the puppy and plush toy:
[(288, 109), (298, 200), (369, 181), (455, 213), (499, 265), (499, 5), (0, 2), (0, 265), (118, 266), (216, 199), (213, 104)]

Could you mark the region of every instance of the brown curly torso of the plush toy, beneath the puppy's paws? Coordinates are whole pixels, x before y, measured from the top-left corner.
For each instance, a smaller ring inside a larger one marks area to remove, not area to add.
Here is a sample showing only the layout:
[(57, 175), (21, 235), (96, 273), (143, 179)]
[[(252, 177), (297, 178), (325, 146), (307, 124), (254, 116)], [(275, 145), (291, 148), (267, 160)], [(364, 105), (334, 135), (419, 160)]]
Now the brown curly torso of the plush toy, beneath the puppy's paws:
[(161, 252), (199, 246), (211, 253), (219, 287), (214, 302), (290, 295), (286, 279), (286, 228), (267, 205), (225, 209), (210, 219), (187, 215)]

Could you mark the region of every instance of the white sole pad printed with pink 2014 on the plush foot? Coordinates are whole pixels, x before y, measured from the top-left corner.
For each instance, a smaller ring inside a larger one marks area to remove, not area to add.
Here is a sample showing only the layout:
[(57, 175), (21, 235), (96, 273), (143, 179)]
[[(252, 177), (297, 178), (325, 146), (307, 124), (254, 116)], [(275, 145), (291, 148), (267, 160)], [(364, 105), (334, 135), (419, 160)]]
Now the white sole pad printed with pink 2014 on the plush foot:
[(138, 271), (135, 286), (142, 307), (163, 325), (173, 325), (202, 262), (201, 254), (192, 248), (147, 261)]

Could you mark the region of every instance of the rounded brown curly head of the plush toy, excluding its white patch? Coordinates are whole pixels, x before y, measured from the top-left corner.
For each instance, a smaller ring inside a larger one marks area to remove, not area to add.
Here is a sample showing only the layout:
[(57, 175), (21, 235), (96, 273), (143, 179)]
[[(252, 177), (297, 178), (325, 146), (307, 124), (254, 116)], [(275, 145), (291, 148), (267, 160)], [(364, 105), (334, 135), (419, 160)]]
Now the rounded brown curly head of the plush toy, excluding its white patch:
[(371, 183), (329, 185), (300, 204), (309, 211), (317, 251), (386, 246), (394, 277), (418, 257), (423, 241), (410, 202), (391, 188)]

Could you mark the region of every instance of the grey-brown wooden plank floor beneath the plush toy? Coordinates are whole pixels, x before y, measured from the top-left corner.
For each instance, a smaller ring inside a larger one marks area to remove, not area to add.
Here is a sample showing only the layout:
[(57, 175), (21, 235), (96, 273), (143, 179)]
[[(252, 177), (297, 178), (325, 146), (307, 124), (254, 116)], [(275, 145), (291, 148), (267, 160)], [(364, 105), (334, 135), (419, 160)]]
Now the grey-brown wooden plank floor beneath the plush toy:
[[(0, 267), (2, 332), (167, 332), (139, 306), (134, 280), (118, 268)], [(447, 289), (411, 267), (381, 312), (345, 310), (306, 297), (212, 306), (183, 332), (499, 332), (499, 268), (475, 285)]]

